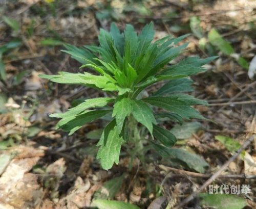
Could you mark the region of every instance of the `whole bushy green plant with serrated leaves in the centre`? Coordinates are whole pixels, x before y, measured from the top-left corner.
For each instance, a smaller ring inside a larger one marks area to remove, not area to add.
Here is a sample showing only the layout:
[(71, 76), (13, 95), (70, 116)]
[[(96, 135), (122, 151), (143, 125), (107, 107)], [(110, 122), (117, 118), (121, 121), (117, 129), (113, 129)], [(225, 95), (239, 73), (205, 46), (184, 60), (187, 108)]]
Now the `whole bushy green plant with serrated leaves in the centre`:
[[(175, 136), (158, 126), (157, 118), (168, 117), (181, 123), (183, 119), (205, 119), (190, 106), (207, 105), (206, 101), (177, 92), (191, 91), (192, 81), (187, 76), (205, 71), (201, 66), (216, 57), (204, 60), (189, 57), (164, 68), (187, 47), (188, 43), (175, 47), (187, 35), (179, 38), (167, 36), (152, 43), (153, 37), (153, 23), (146, 25), (138, 36), (132, 25), (127, 24), (121, 34), (113, 23), (110, 32), (100, 30), (100, 46), (77, 48), (66, 45), (67, 50), (63, 50), (81, 62), (81, 68), (88, 67), (99, 75), (89, 72), (40, 75), (52, 82), (85, 85), (111, 95), (87, 99), (66, 113), (50, 115), (62, 118), (56, 128), (68, 131), (71, 135), (85, 123), (112, 113), (113, 120), (105, 127), (97, 144), (100, 146), (97, 159), (100, 159), (104, 169), (110, 169), (114, 162), (118, 164), (121, 145), (128, 141), (132, 142), (132, 146), (127, 148), (127, 152), (143, 160), (143, 141), (147, 139), (148, 132), (164, 146), (173, 146), (177, 141)], [(169, 82), (152, 96), (142, 98), (140, 93), (145, 88), (163, 80)], [(114, 108), (108, 106), (110, 103), (114, 103)], [(152, 106), (168, 112), (154, 113)], [(148, 141), (156, 145), (154, 141)], [(157, 151), (161, 147), (157, 146)]]

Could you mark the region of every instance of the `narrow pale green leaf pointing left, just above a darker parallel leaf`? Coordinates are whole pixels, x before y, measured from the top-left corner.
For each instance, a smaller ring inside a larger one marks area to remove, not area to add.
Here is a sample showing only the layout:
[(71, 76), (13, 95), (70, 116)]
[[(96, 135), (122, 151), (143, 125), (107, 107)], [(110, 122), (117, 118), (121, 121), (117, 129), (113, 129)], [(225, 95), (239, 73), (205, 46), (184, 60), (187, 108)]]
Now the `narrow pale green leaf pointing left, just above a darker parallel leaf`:
[(51, 114), (50, 117), (54, 118), (68, 118), (75, 115), (80, 114), (81, 112), (95, 107), (104, 107), (108, 105), (108, 103), (113, 102), (114, 99), (107, 97), (93, 98), (84, 100), (84, 102), (80, 103), (78, 106), (69, 109), (66, 113), (55, 113)]

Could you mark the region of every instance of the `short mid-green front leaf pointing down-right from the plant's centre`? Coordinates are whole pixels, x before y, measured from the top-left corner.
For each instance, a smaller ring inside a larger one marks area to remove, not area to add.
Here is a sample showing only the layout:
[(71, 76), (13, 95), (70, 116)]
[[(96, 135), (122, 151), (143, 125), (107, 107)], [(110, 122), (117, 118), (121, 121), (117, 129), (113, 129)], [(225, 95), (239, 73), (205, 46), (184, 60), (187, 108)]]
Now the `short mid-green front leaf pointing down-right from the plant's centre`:
[(146, 126), (146, 128), (153, 133), (153, 123), (156, 124), (156, 119), (153, 115), (153, 110), (142, 100), (131, 100), (132, 113), (134, 118)]

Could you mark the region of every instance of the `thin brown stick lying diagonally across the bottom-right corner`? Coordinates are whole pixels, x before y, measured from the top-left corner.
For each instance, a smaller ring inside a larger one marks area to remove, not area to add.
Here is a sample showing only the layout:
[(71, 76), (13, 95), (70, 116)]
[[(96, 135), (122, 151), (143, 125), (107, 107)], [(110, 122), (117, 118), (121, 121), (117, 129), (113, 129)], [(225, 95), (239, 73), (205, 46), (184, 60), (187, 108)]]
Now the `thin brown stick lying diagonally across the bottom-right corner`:
[(193, 200), (200, 192), (202, 192), (206, 187), (208, 187), (212, 181), (214, 181), (221, 173), (222, 171), (224, 171), (226, 169), (226, 167), (228, 167), (228, 165), (234, 161), (234, 159), (236, 159), (238, 157), (238, 155), (252, 142), (252, 140), (254, 139), (253, 135), (252, 137), (250, 137), (241, 147), (240, 149), (238, 149), (234, 155), (214, 174), (212, 175), (204, 184), (203, 186), (200, 187), (199, 190), (196, 190), (195, 192), (193, 192), (191, 195), (189, 195), (187, 198), (185, 198), (182, 202), (180, 202), (177, 206), (174, 207), (174, 209), (179, 209), (181, 207), (183, 207), (184, 205), (186, 205), (188, 202), (190, 202), (191, 200)]

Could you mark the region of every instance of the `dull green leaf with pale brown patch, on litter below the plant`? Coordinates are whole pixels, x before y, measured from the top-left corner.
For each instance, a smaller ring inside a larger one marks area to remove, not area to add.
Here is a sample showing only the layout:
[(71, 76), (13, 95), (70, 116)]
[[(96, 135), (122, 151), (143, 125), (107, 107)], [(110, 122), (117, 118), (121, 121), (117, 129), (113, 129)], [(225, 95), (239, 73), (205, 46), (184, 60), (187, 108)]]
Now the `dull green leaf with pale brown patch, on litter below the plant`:
[(104, 182), (93, 195), (93, 201), (97, 199), (113, 199), (117, 192), (120, 190), (125, 173), (119, 177), (113, 178)]

